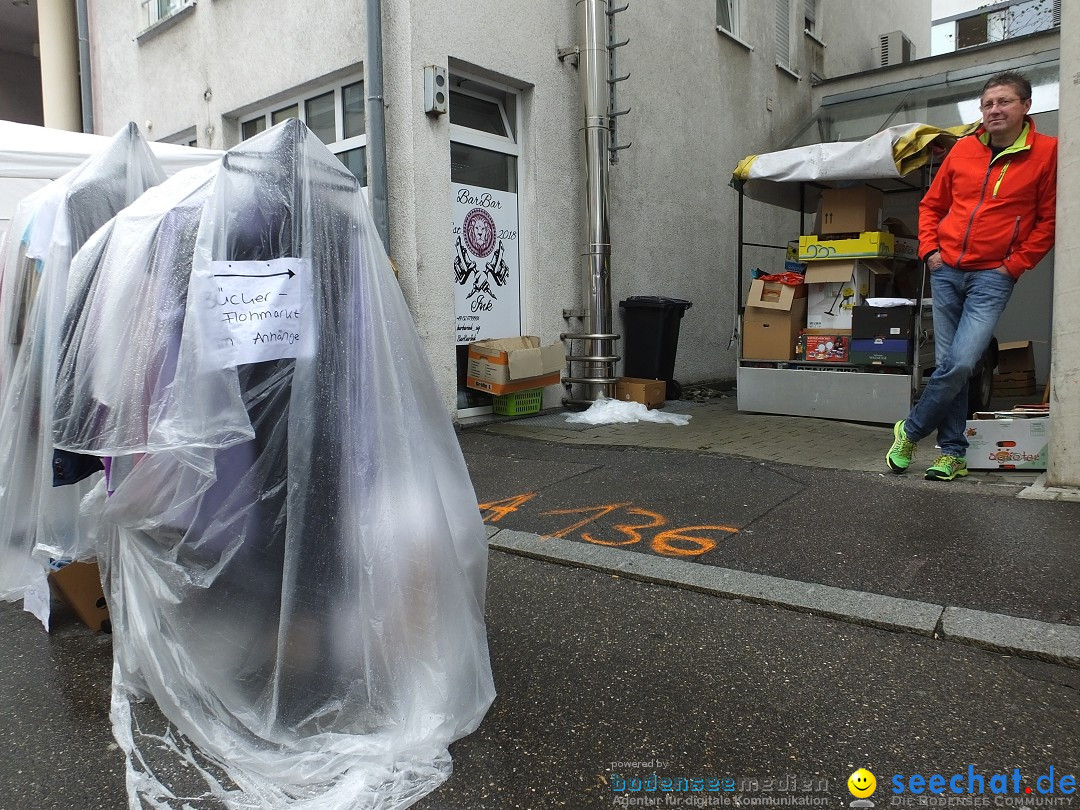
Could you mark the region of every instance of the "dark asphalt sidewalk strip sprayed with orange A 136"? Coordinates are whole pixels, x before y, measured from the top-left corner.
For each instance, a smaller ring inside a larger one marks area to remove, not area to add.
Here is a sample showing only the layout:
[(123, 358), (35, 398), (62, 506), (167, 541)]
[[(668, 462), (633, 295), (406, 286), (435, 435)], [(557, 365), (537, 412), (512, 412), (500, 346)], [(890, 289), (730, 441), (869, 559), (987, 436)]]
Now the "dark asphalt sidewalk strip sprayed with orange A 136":
[(484, 431), (461, 444), (491, 526), (1080, 624), (1080, 503)]

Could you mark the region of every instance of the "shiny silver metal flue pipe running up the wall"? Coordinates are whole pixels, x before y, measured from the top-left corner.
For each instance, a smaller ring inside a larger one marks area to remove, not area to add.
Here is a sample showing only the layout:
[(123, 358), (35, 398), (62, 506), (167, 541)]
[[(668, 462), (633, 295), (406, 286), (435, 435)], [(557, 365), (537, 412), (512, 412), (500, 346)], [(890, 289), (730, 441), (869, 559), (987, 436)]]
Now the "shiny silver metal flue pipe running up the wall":
[(611, 334), (611, 237), (608, 230), (610, 71), (607, 0), (577, 0), (582, 39), (578, 84), (584, 112), (584, 244), (582, 276), (589, 291), (584, 311), (586, 399), (613, 395)]

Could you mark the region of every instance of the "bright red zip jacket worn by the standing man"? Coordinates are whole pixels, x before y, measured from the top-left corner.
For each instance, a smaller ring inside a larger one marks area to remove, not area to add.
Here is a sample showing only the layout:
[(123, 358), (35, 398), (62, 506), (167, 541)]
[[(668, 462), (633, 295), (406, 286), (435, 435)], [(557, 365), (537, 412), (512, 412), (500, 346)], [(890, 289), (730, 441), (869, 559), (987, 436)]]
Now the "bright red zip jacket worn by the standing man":
[(960, 270), (1004, 265), (1018, 279), (1054, 246), (1057, 139), (1026, 121), (993, 159), (983, 127), (956, 143), (919, 204), (919, 256), (941, 251)]

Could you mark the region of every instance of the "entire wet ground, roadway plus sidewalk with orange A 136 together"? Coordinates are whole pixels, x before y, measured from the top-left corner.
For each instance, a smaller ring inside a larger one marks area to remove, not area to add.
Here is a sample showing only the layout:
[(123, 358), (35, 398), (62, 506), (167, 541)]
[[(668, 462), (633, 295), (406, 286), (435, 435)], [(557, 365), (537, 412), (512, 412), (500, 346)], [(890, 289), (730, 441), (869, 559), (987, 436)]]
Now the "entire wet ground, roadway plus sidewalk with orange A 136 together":
[[(1050, 768), (1080, 775), (1080, 665), (954, 639), (957, 617), (1080, 625), (1080, 502), (1016, 497), (1032, 474), (956, 486), (881, 474), (880, 427), (769, 419), (714, 424), (710, 442), (706, 421), (697, 435), (529, 420), (461, 433), (492, 532), (499, 697), (451, 746), (451, 779), (416, 807), (846, 807), (859, 767), (877, 775), (877, 807), (924, 798), (893, 795), (893, 775), (969, 767), (987, 782), (1009, 773), (1010, 786), (1021, 772), (1020, 795), (974, 797), (986, 806), (1065, 799), (1024, 788)], [(833, 467), (787, 461), (807, 453), (804, 427), (839, 448)], [(654, 576), (665, 566), (691, 584)], [(847, 608), (693, 584), (739, 577)], [(954, 626), (860, 618), (882, 599), (953, 609)], [(0, 810), (126, 807), (109, 637), (59, 607), (46, 635), (10, 604), (0, 631)], [(652, 774), (717, 789), (650, 792)]]

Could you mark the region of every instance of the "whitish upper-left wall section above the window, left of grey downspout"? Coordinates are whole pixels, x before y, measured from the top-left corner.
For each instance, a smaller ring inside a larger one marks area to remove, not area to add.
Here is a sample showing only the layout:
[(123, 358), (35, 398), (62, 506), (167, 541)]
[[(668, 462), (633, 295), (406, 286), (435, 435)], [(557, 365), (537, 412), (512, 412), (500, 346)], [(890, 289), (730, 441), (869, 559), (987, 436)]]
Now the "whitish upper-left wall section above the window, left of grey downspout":
[(232, 146), (231, 122), (245, 108), (335, 72), (359, 75), (361, 8), (322, 3), (313, 14), (295, 0), (199, 3), (137, 41), (138, 3), (97, 0), (90, 4), (94, 127), (111, 134), (131, 120), (160, 139), (195, 126), (199, 146)]

